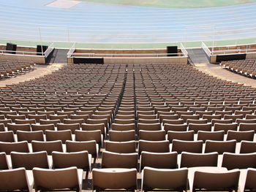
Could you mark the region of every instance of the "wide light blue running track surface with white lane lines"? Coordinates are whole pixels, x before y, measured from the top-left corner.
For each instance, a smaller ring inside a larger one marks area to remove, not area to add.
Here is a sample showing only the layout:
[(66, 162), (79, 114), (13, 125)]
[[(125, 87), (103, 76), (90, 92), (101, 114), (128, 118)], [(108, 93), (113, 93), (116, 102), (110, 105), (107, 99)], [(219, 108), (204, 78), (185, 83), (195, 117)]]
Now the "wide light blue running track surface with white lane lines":
[(42, 42), (164, 43), (256, 37), (256, 4), (161, 9), (53, 0), (0, 1), (0, 38)]

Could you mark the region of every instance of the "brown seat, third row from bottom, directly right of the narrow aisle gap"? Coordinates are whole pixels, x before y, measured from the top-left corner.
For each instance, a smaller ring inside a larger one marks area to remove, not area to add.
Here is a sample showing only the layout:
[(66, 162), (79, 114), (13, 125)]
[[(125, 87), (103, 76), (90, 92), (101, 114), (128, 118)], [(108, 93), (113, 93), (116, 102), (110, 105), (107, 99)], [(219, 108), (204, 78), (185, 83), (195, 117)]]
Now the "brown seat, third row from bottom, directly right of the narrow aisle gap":
[(136, 153), (136, 142), (105, 142), (105, 150), (113, 153)]

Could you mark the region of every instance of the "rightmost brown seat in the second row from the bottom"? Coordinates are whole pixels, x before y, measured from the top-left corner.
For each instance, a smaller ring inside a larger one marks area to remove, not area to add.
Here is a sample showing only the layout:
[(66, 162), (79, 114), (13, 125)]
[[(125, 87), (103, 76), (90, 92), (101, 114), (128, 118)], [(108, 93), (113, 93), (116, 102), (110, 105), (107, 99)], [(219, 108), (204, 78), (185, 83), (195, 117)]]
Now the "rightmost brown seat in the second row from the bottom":
[(256, 168), (256, 153), (223, 153), (222, 167), (228, 170)]

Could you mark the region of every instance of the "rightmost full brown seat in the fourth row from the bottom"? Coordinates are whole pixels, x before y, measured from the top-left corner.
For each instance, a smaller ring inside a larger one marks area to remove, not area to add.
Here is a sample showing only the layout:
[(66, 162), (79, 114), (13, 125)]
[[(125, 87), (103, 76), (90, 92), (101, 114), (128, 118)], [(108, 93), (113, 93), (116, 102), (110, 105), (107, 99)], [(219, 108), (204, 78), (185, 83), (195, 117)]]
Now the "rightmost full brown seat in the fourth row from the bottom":
[(255, 131), (227, 131), (227, 141), (235, 139), (236, 142), (253, 141)]

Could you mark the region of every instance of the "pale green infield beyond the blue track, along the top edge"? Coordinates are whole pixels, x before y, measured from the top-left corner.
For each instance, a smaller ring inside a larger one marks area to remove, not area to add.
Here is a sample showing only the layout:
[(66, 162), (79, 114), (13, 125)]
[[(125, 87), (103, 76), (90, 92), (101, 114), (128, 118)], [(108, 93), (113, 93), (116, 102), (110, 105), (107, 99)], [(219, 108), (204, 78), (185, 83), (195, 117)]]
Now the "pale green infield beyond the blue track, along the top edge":
[(104, 4), (131, 5), (140, 7), (161, 7), (161, 8), (203, 8), (223, 7), (236, 4), (255, 3), (256, 0), (81, 0)]

